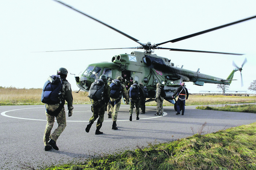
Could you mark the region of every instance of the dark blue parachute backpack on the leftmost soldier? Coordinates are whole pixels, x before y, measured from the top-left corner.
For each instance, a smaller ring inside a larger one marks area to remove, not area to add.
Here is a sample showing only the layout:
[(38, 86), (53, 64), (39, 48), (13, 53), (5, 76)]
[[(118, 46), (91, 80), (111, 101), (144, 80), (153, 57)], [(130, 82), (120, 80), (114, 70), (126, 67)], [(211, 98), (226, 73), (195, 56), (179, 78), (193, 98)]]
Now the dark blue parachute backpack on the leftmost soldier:
[(45, 82), (41, 95), (41, 101), (45, 104), (59, 104), (61, 103), (62, 81), (59, 75), (52, 75)]

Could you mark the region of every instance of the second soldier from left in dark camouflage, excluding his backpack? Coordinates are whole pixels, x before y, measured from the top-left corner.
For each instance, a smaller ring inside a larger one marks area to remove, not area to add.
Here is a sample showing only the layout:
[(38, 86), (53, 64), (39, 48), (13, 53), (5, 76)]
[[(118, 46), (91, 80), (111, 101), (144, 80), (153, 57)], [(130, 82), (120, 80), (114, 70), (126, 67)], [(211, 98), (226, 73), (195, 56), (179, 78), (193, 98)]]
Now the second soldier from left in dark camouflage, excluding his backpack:
[(88, 133), (90, 131), (91, 125), (94, 123), (94, 121), (99, 117), (97, 124), (96, 124), (96, 131), (95, 135), (103, 134), (103, 132), (99, 131), (101, 129), (102, 123), (104, 121), (104, 113), (105, 113), (105, 104), (108, 104), (109, 98), (110, 98), (110, 87), (107, 83), (107, 76), (102, 74), (99, 77), (99, 80), (103, 80), (104, 82), (104, 90), (103, 90), (103, 96), (101, 100), (94, 100), (91, 99), (92, 104), (92, 110), (93, 110), (93, 116), (91, 116), (89, 120), (89, 124), (85, 128), (85, 131)]

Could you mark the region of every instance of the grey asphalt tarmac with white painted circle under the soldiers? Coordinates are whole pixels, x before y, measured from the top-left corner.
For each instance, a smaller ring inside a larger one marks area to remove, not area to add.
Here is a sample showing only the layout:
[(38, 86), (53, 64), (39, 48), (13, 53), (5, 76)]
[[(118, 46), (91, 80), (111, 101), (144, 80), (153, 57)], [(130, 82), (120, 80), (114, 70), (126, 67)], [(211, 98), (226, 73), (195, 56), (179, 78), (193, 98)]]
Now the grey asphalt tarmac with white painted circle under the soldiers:
[[(136, 120), (134, 109), (133, 120), (129, 121), (129, 105), (122, 104), (117, 116), (118, 130), (111, 129), (112, 119), (105, 113), (103, 134), (95, 135), (96, 122), (89, 133), (85, 132), (92, 115), (91, 105), (74, 105), (71, 117), (65, 105), (67, 127), (57, 140), (59, 151), (45, 151), (45, 106), (0, 106), (0, 169), (44, 169), (51, 165), (83, 162), (92, 156), (186, 138), (196, 134), (204, 123), (203, 134), (206, 134), (256, 121), (254, 113), (195, 108), (186, 106), (182, 116), (176, 115), (173, 106), (164, 107), (164, 115), (155, 116), (156, 107), (146, 106), (146, 114), (140, 114), (140, 120)], [(57, 122), (53, 130), (56, 127)]]

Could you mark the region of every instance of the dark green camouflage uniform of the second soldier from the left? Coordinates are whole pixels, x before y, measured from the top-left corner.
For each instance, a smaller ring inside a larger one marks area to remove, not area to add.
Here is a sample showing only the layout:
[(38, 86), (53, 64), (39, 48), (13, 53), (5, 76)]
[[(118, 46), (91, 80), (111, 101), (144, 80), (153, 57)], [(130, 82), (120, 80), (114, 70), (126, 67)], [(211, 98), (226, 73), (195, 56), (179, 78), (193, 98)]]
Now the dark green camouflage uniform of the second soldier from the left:
[(109, 98), (110, 98), (110, 87), (108, 84), (105, 84), (104, 99), (100, 101), (91, 99), (91, 103), (93, 105), (93, 108), (92, 108), (93, 116), (91, 116), (89, 122), (93, 124), (93, 122), (99, 117), (96, 124), (97, 130), (100, 130), (102, 123), (104, 121), (105, 104), (108, 103)]

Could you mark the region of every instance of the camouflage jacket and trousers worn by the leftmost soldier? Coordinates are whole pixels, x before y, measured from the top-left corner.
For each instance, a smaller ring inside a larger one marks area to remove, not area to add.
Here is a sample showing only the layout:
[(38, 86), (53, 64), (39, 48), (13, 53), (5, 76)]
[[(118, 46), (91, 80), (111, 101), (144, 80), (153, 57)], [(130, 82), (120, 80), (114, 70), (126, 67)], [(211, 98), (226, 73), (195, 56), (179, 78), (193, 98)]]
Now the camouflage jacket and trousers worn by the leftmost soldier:
[[(71, 85), (69, 84), (69, 82), (67, 80), (62, 80), (62, 81), (63, 81), (63, 85), (62, 85), (61, 92), (62, 92), (63, 98), (68, 103), (68, 110), (72, 112), (72, 109), (74, 107), (73, 107), (73, 96), (72, 96)], [(49, 111), (55, 111), (57, 108), (59, 108), (61, 106), (62, 105), (60, 105), (60, 104), (58, 104), (58, 105), (46, 104), (46, 109), (48, 109)], [(57, 116), (49, 115), (47, 112), (45, 112), (45, 114), (46, 114), (47, 124), (45, 127), (45, 133), (44, 133), (44, 145), (49, 146), (49, 143), (48, 143), (49, 140), (52, 139), (56, 142), (57, 139), (59, 138), (60, 134), (64, 131), (64, 129), (66, 127), (66, 115), (65, 115), (64, 106), (61, 109), (60, 113), (57, 114)], [(50, 135), (52, 127), (53, 127), (53, 123), (54, 123), (54, 117), (56, 117), (58, 127)]]

